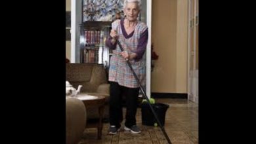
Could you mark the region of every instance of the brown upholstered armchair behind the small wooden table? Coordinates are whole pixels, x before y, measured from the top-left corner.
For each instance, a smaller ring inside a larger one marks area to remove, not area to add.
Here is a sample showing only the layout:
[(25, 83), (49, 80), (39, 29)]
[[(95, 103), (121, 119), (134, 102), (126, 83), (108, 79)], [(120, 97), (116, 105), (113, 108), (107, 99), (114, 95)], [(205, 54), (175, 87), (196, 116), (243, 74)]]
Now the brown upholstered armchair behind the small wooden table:
[[(74, 88), (82, 85), (83, 94), (94, 96), (105, 96), (106, 104), (103, 118), (108, 118), (108, 101), (110, 96), (110, 84), (107, 81), (107, 73), (103, 65), (92, 63), (66, 63), (66, 81), (69, 81)], [(98, 118), (95, 109), (87, 109), (87, 120)]]

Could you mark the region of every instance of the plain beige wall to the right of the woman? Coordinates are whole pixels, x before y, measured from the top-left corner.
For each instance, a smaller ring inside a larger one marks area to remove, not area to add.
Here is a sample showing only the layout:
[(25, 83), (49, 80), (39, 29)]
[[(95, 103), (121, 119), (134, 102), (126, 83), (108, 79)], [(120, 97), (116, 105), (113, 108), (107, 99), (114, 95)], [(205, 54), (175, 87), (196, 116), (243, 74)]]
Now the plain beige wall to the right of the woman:
[(187, 0), (153, 1), (152, 43), (159, 58), (152, 92), (187, 93), (187, 9)]

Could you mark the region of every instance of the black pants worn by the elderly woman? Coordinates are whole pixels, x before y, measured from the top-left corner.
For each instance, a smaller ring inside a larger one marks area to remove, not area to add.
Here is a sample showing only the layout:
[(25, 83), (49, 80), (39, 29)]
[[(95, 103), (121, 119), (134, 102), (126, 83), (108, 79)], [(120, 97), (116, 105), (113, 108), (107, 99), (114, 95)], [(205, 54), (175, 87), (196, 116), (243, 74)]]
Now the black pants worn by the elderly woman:
[(127, 88), (117, 82), (110, 82), (110, 125), (117, 128), (123, 121), (122, 96), (125, 96), (126, 101), (125, 126), (131, 127), (136, 124), (139, 88)]

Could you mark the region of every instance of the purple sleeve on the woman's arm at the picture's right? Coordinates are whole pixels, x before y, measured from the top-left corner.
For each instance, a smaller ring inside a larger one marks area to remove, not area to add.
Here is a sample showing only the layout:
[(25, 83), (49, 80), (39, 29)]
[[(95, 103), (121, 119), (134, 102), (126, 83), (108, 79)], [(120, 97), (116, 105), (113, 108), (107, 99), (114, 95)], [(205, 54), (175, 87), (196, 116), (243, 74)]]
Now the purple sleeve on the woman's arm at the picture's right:
[(140, 36), (139, 44), (137, 47), (137, 50), (135, 53), (137, 54), (135, 61), (140, 60), (142, 58), (145, 50), (146, 50), (146, 44), (148, 43), (148, 29), (146, 29)]

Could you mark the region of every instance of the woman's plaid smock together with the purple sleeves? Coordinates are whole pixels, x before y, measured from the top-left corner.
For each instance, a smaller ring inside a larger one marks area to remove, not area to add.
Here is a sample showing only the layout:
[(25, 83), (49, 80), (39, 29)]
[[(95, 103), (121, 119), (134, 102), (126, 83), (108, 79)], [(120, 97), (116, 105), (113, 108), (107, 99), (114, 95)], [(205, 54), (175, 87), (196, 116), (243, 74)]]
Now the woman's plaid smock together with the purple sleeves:
[[(148, 42), (148, 27), (143, 22), (138, 22), (133, 33), (127, 35), (123, 26), (123, 20), (116, 20), (112, 23), (112, 29), (116, 29), (118, 40), (123, 46), (123, 50), (126, 50), (129, 54), (131, 52), (137, 54), (137, 58), (135, 58), (135, 60), (130, 60), (130, 62), (140, 83), (144, 85), (146, 79), (146, 63), (142, 60), (142, 55), (146, 50), (146, 44)], [(119, 55), (121, 52), (119, 46), (112, 45), (110, 42), (111, 39), (108, 39), (107, 41), (106, 45), (110, 48), (114, 48), (113, 55), (110, 58), (108, 80), (117, 82), (119, 85), (128, 88), (139, 88), (139, 84), (133, 76), (129, 65), (125, 59)]]

